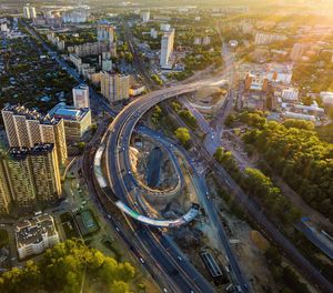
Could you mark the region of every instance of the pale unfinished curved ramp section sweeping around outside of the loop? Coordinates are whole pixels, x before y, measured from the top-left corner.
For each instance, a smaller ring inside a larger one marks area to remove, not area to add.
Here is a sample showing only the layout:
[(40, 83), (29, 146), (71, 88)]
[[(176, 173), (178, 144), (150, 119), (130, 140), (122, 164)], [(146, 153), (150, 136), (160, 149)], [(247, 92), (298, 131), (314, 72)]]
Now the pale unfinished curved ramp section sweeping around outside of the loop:
[(137, 211), (129, 208), (127, 204), (124, 204), (121, 200), (119, 200), (113, 192), (111, 191), (110, 186), (108, 185), (108, 182), (103, 175), (102, 172), (102, 155), (105, 150), (105, 146), (100, 146), (94, 155), (94, 162), (93, 162), (93, 171), (94, 176), (101, 188), (101, 190), (105, 193), (108, 199), (110, 199), (115, 206), (118, 206), (122, 212), (130, 215), (131, 218), (135, 219), (137, 221), (140, 221), (144, 224), (152, 225), (152, 226), (160, 226), (160, 228), (175, 228), (181, 226), (183, 224), (186, 224), (194, 220), (196, 215), (199, 214), (199, 204), (192, 203), (191, 209), (188, 213), (184, 215), (174, 219), (174, 220), (159, 220), (159, 219), (152, 219), (149, 216), (145, 216), (143, 214), (138, 213)]

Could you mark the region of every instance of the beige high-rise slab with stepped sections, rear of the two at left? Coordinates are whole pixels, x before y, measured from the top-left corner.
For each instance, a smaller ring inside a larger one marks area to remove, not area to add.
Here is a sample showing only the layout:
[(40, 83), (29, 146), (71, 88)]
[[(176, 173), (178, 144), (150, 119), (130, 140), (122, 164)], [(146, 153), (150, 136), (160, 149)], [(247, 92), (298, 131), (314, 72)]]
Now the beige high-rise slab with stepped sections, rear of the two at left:
[(23, 105), (8, 105), (1, 111), (10, 146), (32, 148), (37, 143), (53, 143), (59, 164), (68, 158), (62, 119), (42, 115)]

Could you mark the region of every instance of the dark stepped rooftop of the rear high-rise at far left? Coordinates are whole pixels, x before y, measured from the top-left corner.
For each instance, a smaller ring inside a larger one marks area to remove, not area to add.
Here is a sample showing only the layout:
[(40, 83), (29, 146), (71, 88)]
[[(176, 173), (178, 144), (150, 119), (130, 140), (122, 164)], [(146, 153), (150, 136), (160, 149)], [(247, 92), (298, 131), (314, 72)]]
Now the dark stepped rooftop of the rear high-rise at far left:
[(24, 105), (19, 104), (8, 104), (2, 111), (12, 112), (14, 115), (26, 117), (27, 120), (37, 120), (41, 124), (52, 124), (56, 125), (59, 123), (59, 119), (52, 118), (49, 114), (42, 114), (38, 112), (36, 109), (28, 109)]

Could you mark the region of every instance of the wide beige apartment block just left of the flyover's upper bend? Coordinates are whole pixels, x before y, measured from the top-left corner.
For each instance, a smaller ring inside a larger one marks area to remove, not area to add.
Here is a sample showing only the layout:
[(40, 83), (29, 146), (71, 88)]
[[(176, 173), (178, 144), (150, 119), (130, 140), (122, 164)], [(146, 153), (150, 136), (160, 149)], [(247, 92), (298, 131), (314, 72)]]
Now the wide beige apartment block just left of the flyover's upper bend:
[(101, 71), (101, 93), (110, 103), (129, 99), (130, 75)]

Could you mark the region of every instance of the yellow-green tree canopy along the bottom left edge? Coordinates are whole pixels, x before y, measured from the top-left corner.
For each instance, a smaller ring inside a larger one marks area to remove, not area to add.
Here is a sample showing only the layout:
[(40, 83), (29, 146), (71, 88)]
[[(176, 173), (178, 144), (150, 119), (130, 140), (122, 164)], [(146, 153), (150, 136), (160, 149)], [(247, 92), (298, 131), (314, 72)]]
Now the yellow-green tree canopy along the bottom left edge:
[(0, 292), (80, 292), (84, 284), (98, 284), (102, 292), (130, 292), (134, 267), (118, 263), (80, 240), (68, 240), (48, 249), (41, 260), (28, 261), (0, 275)]

